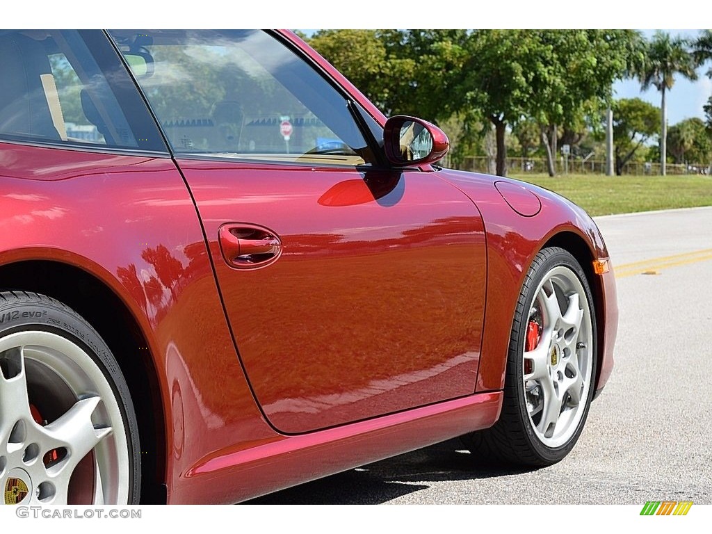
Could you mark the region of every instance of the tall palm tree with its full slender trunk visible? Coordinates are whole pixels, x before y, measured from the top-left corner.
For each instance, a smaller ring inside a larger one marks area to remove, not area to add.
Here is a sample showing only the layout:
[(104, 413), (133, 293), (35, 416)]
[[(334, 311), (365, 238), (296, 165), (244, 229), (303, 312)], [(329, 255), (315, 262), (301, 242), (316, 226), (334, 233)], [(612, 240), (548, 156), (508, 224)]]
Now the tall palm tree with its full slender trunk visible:
[(667, 105), (665, 93), (672, 89), (675, 75), (681, 74), (689, 80), (696, 80), (696, 61), (688, 48), (689, 42), (680, 36), (671, 37), (664, 31), (656, 31), (648, 43), (648, 50), (638, 79), (642, 90), (653, 85), (662, 95), (661, 135), (660, 135), (660, 174), (666, 174), (667, 155)]

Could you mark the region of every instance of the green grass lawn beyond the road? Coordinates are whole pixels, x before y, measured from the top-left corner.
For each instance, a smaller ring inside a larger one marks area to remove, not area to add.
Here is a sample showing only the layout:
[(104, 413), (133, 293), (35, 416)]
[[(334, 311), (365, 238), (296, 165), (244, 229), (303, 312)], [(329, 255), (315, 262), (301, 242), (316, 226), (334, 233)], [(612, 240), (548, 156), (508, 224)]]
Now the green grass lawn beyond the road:
[(712, 205), (712, 177), (511, 174), (582, 206), (592, 216)]

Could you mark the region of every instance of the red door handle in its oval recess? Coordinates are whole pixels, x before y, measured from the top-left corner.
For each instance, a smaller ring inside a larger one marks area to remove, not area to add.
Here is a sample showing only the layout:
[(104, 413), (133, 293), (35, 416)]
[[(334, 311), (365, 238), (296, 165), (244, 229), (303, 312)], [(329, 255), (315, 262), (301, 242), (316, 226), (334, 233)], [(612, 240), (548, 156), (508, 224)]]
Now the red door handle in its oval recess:
[(223, 224), (218, 231), (226, 263), (239, 269), (266, 267), (278, 260), (282, 242), (271, 230), (252, 224)]

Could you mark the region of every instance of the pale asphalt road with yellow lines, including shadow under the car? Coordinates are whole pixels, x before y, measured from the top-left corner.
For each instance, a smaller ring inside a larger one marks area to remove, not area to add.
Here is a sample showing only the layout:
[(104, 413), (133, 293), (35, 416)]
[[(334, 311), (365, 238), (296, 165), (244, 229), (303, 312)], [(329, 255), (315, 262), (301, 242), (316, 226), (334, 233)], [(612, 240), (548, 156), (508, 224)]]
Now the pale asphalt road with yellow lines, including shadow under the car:
[(617, 276), (616, 364), (565, 460), (476, 467), (452, 440), (251, 503), (712, 504), (712, 207), (597, 223)]

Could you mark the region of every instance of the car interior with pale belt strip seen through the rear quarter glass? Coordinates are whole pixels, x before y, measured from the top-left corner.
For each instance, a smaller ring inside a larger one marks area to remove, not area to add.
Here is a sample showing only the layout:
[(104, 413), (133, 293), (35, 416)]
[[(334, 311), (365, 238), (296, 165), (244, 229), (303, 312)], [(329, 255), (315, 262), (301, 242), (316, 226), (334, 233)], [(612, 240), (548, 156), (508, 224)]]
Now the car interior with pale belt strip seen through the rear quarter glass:
[(136, 147), (114, 93), (78, 33), (0, 34), (0, 134)]

